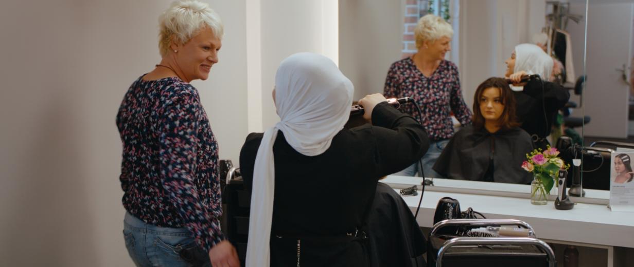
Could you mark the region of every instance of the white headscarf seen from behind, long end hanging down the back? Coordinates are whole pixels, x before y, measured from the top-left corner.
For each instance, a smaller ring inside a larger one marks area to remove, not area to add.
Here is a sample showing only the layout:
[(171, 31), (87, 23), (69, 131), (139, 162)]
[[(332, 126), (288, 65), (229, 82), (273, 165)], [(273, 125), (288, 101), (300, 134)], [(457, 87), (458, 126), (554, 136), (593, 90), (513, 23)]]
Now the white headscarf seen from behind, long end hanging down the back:
[(278, 130), (306, 156), (325, 152), (350, 116), (354, 87), (325, 56), (297, 53), (280, 63), (275, 104), (280, 122), (264, 132), (257, 150), (249, 218), (246, 266), (269, 266), (275, 168), (273, 143)]

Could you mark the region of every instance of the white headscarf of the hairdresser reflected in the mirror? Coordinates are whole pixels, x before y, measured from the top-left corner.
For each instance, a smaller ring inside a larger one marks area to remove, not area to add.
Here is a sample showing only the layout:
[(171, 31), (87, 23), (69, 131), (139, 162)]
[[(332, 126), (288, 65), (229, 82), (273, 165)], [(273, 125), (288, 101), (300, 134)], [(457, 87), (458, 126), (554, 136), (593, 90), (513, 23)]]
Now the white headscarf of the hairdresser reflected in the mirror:
[(526, 71), (529, 75), (539, 74), (545, 82), (550, 80), (553, 72), (553, 59), (546, 54), (541, 47), (534, 44), (520, 44), (515, 46), (515, 68), (517, 71)]

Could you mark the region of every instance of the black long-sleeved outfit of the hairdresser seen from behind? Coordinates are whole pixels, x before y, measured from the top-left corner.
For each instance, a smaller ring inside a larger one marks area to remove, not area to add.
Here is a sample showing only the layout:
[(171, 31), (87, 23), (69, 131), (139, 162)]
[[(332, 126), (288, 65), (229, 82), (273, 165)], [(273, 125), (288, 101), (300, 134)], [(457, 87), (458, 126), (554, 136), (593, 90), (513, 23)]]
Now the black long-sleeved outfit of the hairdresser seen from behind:
[[(249, 190), (261, 140), (262, 134), (249, 134), (240, 152), (240, 170)], [(428, 148), (424, 128), (387, 102), (374, 108), (372, 125), (340, 130), (327, 151), (317, 156), (295, 151), (278, 132), (273, 144), (271, 266), (297, 266), (298, 238), (303, 240), (302, 267), (369, 266), (367, 239), (325, 245), (309, 239), (340, 239), (365, 228), (378, 178), (403, 170)]]

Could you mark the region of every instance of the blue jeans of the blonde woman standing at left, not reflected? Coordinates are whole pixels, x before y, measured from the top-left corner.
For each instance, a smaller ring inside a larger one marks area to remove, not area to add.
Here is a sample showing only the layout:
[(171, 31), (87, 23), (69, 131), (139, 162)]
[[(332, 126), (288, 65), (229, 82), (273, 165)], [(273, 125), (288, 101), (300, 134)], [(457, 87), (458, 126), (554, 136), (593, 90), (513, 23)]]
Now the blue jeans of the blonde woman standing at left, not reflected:
[(211, 266), (186, 228), (157, 227), (126, 212), (123, 236), (136, 266)]

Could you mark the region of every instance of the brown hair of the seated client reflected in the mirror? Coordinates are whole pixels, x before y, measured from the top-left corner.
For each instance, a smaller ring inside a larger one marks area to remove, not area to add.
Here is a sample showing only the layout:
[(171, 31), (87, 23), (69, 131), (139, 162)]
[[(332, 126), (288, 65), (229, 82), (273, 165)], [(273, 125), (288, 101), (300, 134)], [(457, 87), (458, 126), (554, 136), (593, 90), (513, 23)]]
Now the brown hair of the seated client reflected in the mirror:
[(484, 90), (491, 87), (500, 89), (500, 101), (504, 105), (504, 111), (502, 111), (502, 115), (500, 116), (500, 119), (498, 119), (500, 129), (508, 130), (510, 128), (518, 127), (520, 123), (517, 122), (517, 118), (515, 116), (515, 96), (513, 96), (513, 91), (510, 87), (508, 87), (508, 82), (505, 78), (491, 77), (482, 82), (482, 84), (478, 85), (477, 90), (475, 90), (473, 108), (474, 128), (479, 130), (484, 127), (484, 116), (482, 116), (482, 112), (480, 111), (480, 98), (482, 97)]

